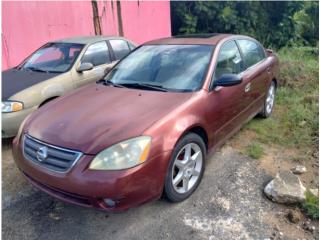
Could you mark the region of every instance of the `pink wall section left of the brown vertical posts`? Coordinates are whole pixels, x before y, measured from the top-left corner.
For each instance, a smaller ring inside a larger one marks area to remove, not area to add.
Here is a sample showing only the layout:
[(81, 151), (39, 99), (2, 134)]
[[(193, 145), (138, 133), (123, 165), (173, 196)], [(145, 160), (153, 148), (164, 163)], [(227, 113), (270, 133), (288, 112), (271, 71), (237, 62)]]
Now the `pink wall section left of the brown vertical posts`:
[(94, 34), (90, 2), (2, 2), (2, 69), (47, 41)]

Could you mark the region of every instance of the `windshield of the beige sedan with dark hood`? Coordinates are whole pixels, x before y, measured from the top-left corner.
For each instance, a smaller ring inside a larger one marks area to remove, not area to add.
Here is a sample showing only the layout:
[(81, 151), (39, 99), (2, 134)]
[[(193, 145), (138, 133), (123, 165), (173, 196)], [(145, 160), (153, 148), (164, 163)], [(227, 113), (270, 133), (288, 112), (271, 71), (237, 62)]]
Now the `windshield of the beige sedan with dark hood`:
[(75, 43), (48, 43), (34, 52), (19, 68), (39, 72), (66, 72), (83, 46)]

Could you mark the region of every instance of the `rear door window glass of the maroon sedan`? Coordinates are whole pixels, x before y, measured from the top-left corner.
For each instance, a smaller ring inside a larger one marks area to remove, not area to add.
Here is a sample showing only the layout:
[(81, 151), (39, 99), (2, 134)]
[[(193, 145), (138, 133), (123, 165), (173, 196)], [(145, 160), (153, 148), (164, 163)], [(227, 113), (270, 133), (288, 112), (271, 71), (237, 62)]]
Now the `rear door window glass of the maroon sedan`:
[(243, 53), (246, 68), (251, 67), (265, 58), (265, 53), (258, 43), (244, 39), (237, 40), (237, 42)]

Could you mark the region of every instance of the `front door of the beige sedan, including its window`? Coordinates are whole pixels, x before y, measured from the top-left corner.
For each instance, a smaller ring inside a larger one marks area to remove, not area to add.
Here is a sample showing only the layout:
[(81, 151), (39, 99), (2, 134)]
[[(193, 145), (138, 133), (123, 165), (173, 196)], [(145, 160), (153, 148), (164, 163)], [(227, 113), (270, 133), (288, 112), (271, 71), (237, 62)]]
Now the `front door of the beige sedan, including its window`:
[(106, 41), (93, 43), (87, 47), (77, 67), (81, 63), (91, 63), (93, 68), (87, 71), (74, 71), (73, 79), (76, 87), (100, 80), (105, 76), (113, 63)]

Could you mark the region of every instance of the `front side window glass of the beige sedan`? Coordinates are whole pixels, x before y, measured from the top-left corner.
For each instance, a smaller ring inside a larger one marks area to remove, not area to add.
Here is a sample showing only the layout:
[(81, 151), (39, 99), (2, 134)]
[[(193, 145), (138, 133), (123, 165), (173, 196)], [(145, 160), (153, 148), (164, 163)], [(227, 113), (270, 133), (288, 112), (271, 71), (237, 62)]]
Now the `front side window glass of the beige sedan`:
[(110, 63), (109, 49), (106, 42), (90, 45), (83, 55), (81, 62), (92, 63), (93, 66)]

